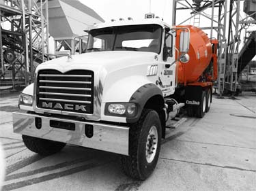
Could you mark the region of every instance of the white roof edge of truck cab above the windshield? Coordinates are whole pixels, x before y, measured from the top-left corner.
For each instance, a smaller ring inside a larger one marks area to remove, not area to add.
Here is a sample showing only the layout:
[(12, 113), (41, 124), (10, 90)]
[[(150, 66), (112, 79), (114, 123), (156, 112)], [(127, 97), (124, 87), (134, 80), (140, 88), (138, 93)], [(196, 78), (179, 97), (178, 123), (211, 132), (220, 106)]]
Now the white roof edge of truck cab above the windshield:
[(139, 24), (158, 24), (162, 28), (170, 28), (171, 26), (166, 22), (163, 22), (160, 18), (147, 18), (144, 20), (117, 20), (113, 22), (103, 22), (99, 24), (93, 24), (88, 26), (85, 31), (90, 31), (92, 29), (102, 29), (107, 27), (116, 27), (116, 26), (129, 26), (129, 25), (139, 25)]

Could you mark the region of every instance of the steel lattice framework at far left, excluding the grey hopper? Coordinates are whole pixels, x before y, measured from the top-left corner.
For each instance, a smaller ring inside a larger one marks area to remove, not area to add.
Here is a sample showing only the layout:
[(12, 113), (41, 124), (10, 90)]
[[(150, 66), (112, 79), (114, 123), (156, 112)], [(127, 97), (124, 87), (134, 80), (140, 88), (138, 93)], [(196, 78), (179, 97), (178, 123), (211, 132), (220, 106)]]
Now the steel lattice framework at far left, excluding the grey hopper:
[[(15, 90), (33, 82), (34, 64), (48, 59), (48, 1), (5, 0), (0, 13), (1, 85)], [(11, 82), (5, 77), (10, 69)]]

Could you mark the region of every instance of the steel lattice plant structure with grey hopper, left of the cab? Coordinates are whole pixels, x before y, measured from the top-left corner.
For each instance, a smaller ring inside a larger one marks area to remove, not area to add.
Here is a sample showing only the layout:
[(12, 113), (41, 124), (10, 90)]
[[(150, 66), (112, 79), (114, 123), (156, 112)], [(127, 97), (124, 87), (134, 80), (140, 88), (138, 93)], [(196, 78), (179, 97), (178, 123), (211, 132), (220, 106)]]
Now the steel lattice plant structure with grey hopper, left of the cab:
[(77, 0), (1, 0), (0, 13), (1, 86), (13, 89), (33, 82), (35, 67), (49, 59), (49, 37), (55, 40), (55, 54), (82, 52), (83, 30), (104, 22)]

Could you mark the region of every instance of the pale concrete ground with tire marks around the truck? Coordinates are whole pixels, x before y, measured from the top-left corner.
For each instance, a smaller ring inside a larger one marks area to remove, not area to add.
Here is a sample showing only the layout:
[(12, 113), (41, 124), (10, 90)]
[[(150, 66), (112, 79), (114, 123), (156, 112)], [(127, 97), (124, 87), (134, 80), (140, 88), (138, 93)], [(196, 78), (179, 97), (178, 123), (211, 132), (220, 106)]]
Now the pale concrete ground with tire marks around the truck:
[(20, 135), (12, 133), (17, 101), (18, 94), (0, 99), (7, 164), (2, 190), (256, 190), (255, 93), (214, 97), (203, 119), (188, 118), (169, 130), (146, 181), (126, 177), (117, 154), (74, 145), (47, 157), (27, 150)]

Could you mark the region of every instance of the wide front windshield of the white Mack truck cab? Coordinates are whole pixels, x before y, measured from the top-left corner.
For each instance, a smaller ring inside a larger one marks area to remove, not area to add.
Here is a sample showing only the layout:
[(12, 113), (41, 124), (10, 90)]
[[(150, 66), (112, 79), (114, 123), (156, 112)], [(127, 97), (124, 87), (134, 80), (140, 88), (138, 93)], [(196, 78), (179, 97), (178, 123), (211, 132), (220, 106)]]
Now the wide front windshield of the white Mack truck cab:
[(141, 24), (94, 29), (89, 32), (86, 52), (143, 51), (160, 53), (162, 27)]

